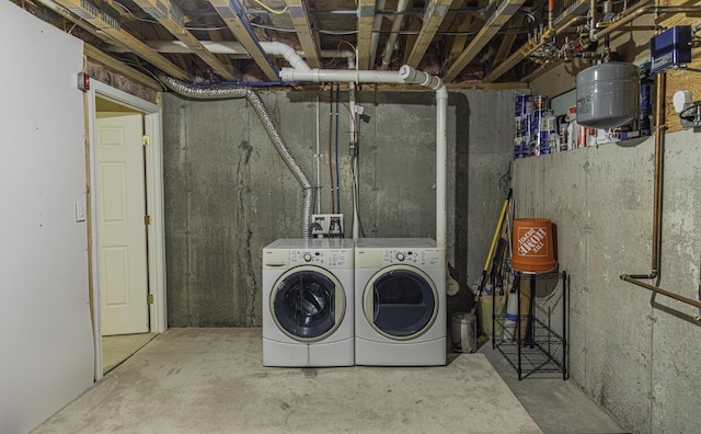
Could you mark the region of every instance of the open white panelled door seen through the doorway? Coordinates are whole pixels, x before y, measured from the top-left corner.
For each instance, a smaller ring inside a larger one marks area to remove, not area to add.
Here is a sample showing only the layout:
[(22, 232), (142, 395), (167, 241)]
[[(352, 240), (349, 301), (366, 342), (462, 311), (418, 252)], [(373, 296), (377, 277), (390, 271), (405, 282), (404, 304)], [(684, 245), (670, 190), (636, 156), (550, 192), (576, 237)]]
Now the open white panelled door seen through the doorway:
[(97, 113), (102, 335), (149, 331), (142, 132), (140, 113)]

